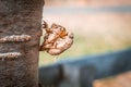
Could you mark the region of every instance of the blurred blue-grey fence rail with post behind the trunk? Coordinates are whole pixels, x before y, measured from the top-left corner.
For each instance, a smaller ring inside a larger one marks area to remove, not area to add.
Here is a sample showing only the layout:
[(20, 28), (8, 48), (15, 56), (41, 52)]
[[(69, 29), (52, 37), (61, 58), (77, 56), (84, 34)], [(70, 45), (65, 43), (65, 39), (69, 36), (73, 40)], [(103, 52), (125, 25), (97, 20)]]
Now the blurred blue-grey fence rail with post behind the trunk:
[(43, 87), (93, 87), (95, 79), (131, 70), (131, 49), (62, 60), (39, 69)]

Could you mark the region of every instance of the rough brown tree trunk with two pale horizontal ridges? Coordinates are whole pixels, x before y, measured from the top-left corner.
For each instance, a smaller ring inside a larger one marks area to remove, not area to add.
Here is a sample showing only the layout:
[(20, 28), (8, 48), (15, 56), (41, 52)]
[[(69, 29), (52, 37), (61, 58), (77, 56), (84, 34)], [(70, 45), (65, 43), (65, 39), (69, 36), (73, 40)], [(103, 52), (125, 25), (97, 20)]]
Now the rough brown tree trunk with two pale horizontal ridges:
[(44, 0), (0, 0), (0, 87), (38, 87)]

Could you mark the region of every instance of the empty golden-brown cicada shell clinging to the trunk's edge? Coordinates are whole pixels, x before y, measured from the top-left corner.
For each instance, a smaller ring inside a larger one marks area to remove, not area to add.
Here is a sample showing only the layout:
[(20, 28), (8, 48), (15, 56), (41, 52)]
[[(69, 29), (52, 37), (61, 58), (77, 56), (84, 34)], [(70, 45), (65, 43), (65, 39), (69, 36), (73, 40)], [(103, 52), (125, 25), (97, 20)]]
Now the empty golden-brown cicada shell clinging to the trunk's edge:
[(61, 25), (52, 24), (49, 28), (47, 27), (47, 23), (44, 23), (46, 34), (44, 37), (44, 42), (40, 46), (41, 51), (47, 51), (51, 55), (58, 55), (72, 46), (72, 33), (67, 32), (67, 29)]

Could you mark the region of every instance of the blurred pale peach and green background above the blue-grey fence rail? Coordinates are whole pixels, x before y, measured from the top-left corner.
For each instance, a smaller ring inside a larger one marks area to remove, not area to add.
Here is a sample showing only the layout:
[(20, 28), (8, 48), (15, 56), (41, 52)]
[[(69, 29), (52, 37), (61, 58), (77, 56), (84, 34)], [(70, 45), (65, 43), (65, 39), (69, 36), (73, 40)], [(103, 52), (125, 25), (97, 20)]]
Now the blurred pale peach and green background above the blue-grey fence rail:
[(73, 32), (74, 44), (57, 57), (40, 52), (39, 66), (131, 48), (131, 0), (45, 0), (43, 20)]

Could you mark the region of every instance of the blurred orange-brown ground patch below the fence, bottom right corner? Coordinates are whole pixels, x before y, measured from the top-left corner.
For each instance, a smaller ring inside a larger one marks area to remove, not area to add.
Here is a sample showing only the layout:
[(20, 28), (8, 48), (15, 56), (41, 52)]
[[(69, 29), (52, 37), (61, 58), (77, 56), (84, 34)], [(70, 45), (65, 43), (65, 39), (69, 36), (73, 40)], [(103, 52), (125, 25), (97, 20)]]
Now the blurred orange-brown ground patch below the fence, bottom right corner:
[(94, 87), (131, 87), (131, 72), (94, 82)]

